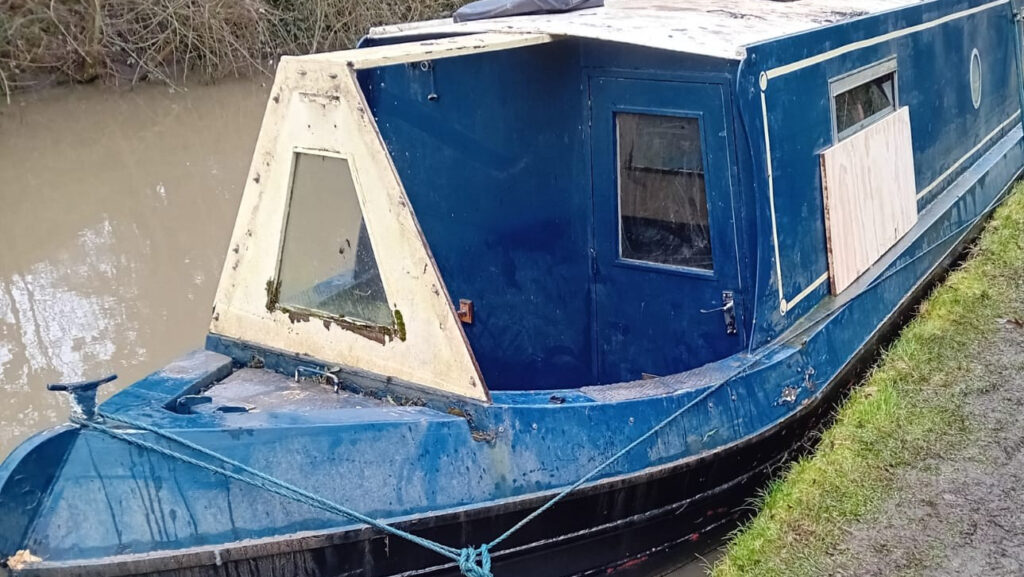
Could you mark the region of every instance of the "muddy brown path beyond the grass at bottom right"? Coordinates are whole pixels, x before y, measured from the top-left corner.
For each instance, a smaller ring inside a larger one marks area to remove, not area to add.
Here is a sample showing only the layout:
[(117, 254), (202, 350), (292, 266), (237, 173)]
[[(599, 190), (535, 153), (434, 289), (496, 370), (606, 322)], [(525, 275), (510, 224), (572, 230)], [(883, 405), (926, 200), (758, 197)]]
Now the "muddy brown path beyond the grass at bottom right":
[[(1010, 308), (1024, 311), (1024, 291), (1016, 297)], [(902, 471), (824, 573), (1024, 575), (1024, 327), (1000, 321), (964, 362), (970, 435), (951, 453)]]

